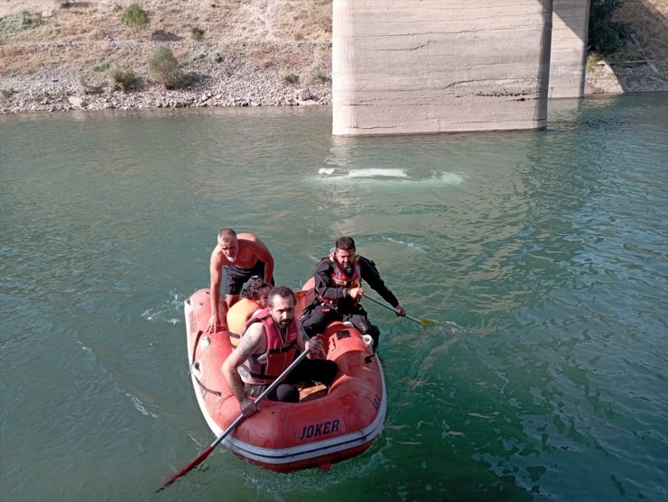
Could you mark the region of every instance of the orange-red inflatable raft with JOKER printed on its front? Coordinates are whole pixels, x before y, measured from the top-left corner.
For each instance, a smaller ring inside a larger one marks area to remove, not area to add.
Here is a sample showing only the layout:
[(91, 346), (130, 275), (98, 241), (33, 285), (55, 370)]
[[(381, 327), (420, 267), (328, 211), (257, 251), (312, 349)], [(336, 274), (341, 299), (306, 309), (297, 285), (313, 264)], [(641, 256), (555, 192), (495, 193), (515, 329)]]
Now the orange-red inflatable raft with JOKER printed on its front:
[[(311, 297), (307, 288), (297, 292), (296, 315)], [(240, 411), (220, 370), (234, 350), (230, 333), (227, 326), (206, 333), (209, 316), (209, 289), (200, 289), (185, 301), (190, 376), (202, 415), (218, 437)], [(333, 323), (323, 334), (327, 359), (339, 364), (329, 389), (303, 388), (299, 403), (265, 399), (255, 415), (223, 440), (227, 448), (266, 469), (290, 472), (329, 469), (373, 443), (383, 428), (387, 403), (380, 361), (355, 328)]]

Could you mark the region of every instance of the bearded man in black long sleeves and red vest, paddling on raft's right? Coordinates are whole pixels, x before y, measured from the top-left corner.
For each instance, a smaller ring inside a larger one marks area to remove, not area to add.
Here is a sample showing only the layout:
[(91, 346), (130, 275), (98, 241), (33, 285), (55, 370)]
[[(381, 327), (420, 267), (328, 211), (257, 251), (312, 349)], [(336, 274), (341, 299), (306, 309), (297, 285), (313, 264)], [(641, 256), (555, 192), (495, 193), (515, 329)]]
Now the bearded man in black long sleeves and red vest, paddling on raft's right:
[(348, 321), (362, 334), (371, 335), (376, 350), (380, 330), (369, 322), (366, 311), (359, 304), (359, 299), (364, 297), (362, 280), (394, 306), (396, 315), (406, 315), (399, 300), (385, 286), (376, 263), (356, 254), (352, 237), (339, 237), (334, 252), (320, 260), (313, 276), (315, 299), (302, 314), (304, 331), (309, 336), (322, 333), (332, 321)]

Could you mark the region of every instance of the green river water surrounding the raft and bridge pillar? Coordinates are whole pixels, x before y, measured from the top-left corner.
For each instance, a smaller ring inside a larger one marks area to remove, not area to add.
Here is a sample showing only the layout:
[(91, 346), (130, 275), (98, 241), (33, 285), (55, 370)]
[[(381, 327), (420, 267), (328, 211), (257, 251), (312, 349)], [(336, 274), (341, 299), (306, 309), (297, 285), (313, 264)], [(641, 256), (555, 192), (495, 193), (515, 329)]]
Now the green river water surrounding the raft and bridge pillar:
[[(0, 117), (0, 499), (668, 499), (668, 100), (549, 128), (332, 137), (328, 107)], [(341, 234), (385, 309), (383, 433), (329, 473), (214, 439), (183, 300), (223, 226), (293, 288)]]

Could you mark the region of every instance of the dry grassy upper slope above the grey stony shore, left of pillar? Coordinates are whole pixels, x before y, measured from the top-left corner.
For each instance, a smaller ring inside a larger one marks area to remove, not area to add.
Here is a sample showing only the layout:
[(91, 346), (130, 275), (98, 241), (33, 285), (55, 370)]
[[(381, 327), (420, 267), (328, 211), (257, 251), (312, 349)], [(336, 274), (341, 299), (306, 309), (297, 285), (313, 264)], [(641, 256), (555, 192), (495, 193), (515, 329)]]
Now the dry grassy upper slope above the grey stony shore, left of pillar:
[[(246, 43), (250, 52), (254, 46), (300, 41), (327, 46), (330, 39), (329, 0), (143, 0), (140, 4), (150, 21), (138, 30), (120, 23), (130, 3), (4, 0), (0, 16), (6, 21), (22, 12), (34, 17), (19, 21), (24, 29), (0, 24), (0, 75), (30, 75), (49, 66), (85, 69), (101, 59), (144, 64), (142, 55), (165, 42), (184, 56), (202, 45)], [(203, 33), (200, 39), (195, 39), (193, 29)], [(264, 66), (272, 62), (271, 54), (256, 57), (264, 59)]]

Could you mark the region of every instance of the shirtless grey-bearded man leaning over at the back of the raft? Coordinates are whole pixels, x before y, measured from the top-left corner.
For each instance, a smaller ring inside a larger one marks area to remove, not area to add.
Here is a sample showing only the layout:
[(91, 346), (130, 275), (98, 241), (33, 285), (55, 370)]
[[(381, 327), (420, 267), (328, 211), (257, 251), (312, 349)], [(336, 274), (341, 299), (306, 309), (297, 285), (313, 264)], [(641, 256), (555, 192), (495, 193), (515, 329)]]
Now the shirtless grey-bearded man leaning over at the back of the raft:
[[(209, 264), (211, 276), (211, 317), (208, 333), (215, 333), (220, 328), (218, 300), (220, 285), (225, 276), (225, 302), (227, 308), (239, 299), (239, 293), (246, 281), (254, 276), (264, 282), (274, 284), (274, 257), (264, 242), (253, 233), (237, 233), (231, 228), (224, 228), (218, 233), (218, 245), (211, 252)], [(225, 313), (223, 313), (225, 314)]]

